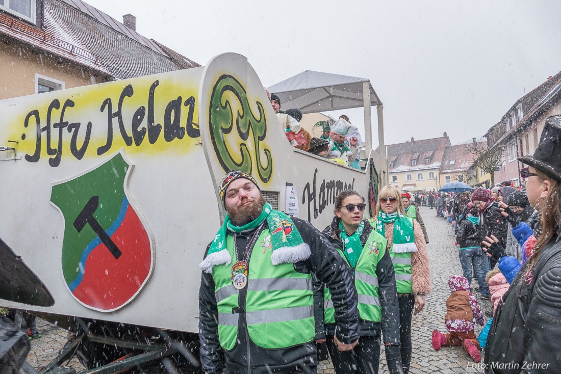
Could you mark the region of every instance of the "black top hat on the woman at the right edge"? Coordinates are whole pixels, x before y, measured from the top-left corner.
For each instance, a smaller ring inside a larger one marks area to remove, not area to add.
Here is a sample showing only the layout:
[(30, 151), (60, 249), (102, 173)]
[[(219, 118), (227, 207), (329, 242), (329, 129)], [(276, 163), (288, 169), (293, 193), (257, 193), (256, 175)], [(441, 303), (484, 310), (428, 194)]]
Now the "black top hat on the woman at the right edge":
[(535, 153), (519, 157), (518, 161), (561, 181), (561, 115), (546, 118)]

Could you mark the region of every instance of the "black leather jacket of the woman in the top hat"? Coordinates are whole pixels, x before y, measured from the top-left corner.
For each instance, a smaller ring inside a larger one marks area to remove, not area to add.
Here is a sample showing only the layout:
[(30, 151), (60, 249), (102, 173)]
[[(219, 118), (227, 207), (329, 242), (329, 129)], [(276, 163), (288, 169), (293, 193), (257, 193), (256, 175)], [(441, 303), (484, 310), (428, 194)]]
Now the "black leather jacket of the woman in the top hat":
[(490, 373), (561, 373), (560, 285), (561, 242), (552, 241), (499, 301), (485, 349)]

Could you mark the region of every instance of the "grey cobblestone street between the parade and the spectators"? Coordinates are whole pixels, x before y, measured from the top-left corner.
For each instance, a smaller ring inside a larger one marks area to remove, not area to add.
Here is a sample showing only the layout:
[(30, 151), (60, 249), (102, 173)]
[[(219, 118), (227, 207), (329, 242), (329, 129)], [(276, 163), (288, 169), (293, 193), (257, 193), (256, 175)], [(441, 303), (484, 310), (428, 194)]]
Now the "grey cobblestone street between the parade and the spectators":
[[(427, 245), (431, 265), (431, 278), (433, 293), (426, 298), (422, 312), (413, 316), (412, 340), (413, 355), (411, 373), (480, 373), (479, 368), (474, 368), (473, 361), (461, 347), (444, 347), (436, 352), (431, 347), (431, 333), (434, 329), (446, 332), (444, 314), (446, 312), (446, 299), (450, 294), (448, 279), (450, 275), (462, 274), (458, 260), (458, 249), (454, 246), (454, 232), (451, 225), (444, 218), (437, 218), (436, 210), (421, 207), (421, 215), (429, 232), (430, 243)], [(483, 310), (490, 310), (489, 301), (482, 300), (479, 293), (474, 293)], [(59, 349), (66, 343), (66, 331), (37, 320), (42, 338), (31, 341), (31, 352), (27, 357), (28, 362), (36, 369), (49, 363), (56, 357)], [(476, 334), (481, 326), (476, 325)], [(384, 353), (380, 356), (380, 373), (387, 373)], [(81, 368), (76, 358), (68, 366)], [(318, 372), (320, 374), (333, 373), (333, 368), (328, 362), (321, 362)]]

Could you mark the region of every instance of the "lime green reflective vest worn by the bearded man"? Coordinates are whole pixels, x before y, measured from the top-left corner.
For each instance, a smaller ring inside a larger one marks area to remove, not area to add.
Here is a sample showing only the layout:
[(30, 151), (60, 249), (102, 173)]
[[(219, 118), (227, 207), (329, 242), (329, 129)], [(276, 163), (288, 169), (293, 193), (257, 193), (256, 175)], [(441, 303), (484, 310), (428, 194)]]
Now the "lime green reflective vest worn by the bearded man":
[[(247, 332), (261, 348), (286, 348), (314, 340), (311, 274), (298, 273), (292, 263), (274, 266), (269, 235), (269, 229), (263, 230), (251, 252), (245, 300), (240, 300), (240, 291), (230, 280), (234, 260), (213, 267), (218, 338), (224, 349), (236, 345), (240, 313), (234, 311), (240, 306), (245, 308)], [(236, 258), (232, 235), (226, 237), (226, 247)]]

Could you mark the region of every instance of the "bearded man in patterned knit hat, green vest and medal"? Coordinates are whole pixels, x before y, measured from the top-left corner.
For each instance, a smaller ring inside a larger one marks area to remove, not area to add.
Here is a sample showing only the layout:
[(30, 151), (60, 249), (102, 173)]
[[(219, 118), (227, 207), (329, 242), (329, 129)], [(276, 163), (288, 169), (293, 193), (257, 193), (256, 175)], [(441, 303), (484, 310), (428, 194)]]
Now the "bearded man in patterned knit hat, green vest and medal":
[(312, 273), (332, 294), (339, 350), (358, 340), (350, 269), (309, 222), (265, 202), (232, 170), (219, 195), (228, 215), (199, 265), (201, 363), (206, 373), (315, 373)]

